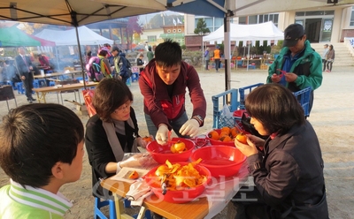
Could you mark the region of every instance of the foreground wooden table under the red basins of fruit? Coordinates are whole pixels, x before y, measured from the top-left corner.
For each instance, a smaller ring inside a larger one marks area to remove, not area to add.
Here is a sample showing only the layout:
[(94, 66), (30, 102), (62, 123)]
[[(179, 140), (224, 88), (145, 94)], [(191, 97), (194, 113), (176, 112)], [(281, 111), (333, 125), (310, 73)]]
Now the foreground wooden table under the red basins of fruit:
[[(244, 165), (242, 170), (240, 170), (235, 177), (213, 178), (212, 182), (214, 184), (210, 185), (200, 198), (183, 204), (174, 204), (165, 202), (164, 200), (158, 200), (158, 197), (152, 194), (143, 201), (138, 218), (143, 216), (146, 208), (165, 218), (212, 218), (212, 216), (217, 215), (227, 206), (228, 201), (238, 192), (246, 176), (248, 176), (248, 171), (246, 165)], [(121, 201), (119, 201), (119, 196), (125, 197), (126, 193), (129, 191), (130, 184), (107, 178), (102, 181), (101, 185), (114, 194), (118, 218), (133, 218), (125, 214), (119, 217), (122, 210), (124, 210)]]

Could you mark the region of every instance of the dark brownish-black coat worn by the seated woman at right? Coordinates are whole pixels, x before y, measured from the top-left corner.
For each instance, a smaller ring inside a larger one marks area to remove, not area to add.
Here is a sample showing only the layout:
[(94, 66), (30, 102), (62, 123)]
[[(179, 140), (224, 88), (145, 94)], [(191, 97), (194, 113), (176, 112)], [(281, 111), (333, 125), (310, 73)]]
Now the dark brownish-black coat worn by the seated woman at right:
[(286, 218), (328, 218), (324, 164), (319, 140), (308, 121), (268, 139), (263, 159), (258, 154), (247, 161), (263, 162), (264, 168), (252, 172), (254, 182), (266, 204), (279, 215), (289, 211)]

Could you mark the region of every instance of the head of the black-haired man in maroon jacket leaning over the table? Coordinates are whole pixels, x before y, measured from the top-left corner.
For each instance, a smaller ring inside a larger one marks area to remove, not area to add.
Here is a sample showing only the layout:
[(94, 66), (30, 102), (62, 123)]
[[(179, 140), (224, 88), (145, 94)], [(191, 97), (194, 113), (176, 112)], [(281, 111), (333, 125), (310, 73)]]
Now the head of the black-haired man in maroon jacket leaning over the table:
[(178, 42), (168, 39), (155, 49), (158, 76), (166, 85), (172, 85), (181, 72), (182, 49)]

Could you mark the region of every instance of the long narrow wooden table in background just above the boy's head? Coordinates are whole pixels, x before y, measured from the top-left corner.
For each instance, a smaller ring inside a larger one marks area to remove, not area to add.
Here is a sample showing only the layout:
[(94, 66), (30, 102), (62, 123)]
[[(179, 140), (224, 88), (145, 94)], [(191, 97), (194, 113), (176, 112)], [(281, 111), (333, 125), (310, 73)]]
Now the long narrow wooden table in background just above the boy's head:
[[(98, 85), (98, 83), (96, 83), (96, 82), (86, 83), (86, 87), (96, 87), (97, 85)], [(55, 86), (55, 87), (39, 87), (39, 88), (33, 88), (32, 90), (35, 91), (35, 93), (37, 94), (38, 102), (46, 102), (45, 96), (50, 92), (55, 92), (55, 93), (57, 93), (58, 103), (60, 103), (58, 94), (60, 94), (60, 97), (61, 97), (61, 92), (69, 91), (69, 90), (73, 90), (74, 94), (77, 91), (79, 94), (79, 102), (81, 102), (79, 89), (81, 89), (83, 87), (84, 87), (83, 83), (75, 83), (75, 84), (71, 84), (71, 85), (62, 85), (62, 86)], [(75, 94), (75, 100), (76, 100), (76, 94)], [(62, 97), (61, 97), (61, 104), (63, 104)]]

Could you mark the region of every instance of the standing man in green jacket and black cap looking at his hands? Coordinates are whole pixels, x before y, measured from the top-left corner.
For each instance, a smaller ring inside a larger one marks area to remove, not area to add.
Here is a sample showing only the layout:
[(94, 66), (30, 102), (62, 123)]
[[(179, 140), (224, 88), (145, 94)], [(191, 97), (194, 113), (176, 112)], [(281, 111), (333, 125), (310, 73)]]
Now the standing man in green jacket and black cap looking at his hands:
[[(312, 109), (313, 90), (322, 83), (322, 58), (306, 41), (304, 26), (291, 24), (284, 31), (283, 49), (269, 67), (267, 83), (280, 83), (292, 92), (311, 87), (309, 113)], [(285, 73), (281, 73), (285, 71)]]

